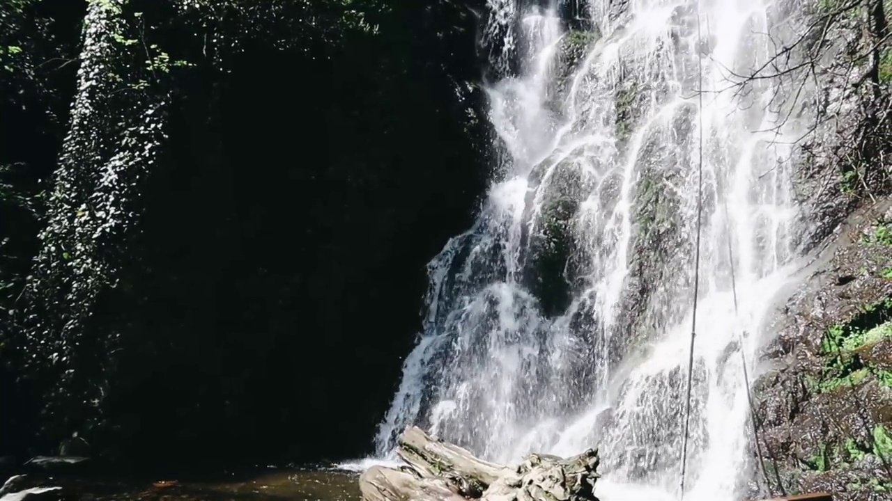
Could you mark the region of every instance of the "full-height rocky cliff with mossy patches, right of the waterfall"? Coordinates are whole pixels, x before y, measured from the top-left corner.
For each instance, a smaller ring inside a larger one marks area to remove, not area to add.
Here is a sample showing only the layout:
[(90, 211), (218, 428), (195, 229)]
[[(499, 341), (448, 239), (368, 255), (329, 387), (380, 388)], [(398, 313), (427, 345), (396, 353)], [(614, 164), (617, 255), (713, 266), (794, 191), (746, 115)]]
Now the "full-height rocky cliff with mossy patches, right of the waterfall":
[(822, 93), (796, 174), (815, 260), (764, 350), (756, 425), (774, 494), (880, 499), (892, 491), (889, 13), (864, 1), (811, 15)]

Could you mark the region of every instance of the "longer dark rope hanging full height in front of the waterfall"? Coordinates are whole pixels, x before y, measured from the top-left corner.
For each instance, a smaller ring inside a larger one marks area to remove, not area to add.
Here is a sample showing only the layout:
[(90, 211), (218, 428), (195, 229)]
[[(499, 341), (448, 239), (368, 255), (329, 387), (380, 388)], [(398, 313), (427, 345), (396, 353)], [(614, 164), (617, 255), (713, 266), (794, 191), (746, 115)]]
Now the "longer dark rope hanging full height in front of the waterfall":
[(684, 406), (684, 438), (681, 441), (681, 497), (684, 497), (684, 477), (688, 466), (688, 435), (690, 431), (690, 389), (694, 374), (694, 340), (697, 338), (697, 297), (700, 292), (700, 234), (703, 213), (703, 58), (700, 57), (700, 45), (703, 44), (703, 36), (700, 30), (700, 2), (697, 2), (697, 46), (694, 48), (697, 55), (697, 96), (698, 96), (698, 168), (697, 168), (697, 243), (694, 250), (694, 305), (691, 308), (690, 318), (690, 352), (688, 356), (688, 392)]

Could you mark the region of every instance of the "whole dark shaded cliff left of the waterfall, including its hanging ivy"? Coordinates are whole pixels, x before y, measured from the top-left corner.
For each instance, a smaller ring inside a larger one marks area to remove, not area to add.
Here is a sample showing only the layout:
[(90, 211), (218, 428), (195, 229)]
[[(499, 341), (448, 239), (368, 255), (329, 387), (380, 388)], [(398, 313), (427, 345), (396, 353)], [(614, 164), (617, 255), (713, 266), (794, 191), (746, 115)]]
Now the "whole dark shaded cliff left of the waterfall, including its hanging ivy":
[(70, 4), (0, 4), (0, 455), (367, 453), (487, 177), (471, 5)]

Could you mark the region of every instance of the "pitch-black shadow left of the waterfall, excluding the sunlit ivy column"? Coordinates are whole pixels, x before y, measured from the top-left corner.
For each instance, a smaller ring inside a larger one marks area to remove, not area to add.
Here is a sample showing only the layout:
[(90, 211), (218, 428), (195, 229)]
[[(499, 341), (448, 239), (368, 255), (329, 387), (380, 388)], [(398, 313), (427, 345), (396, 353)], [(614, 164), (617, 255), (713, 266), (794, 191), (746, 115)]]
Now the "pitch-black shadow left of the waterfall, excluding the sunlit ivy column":
[[(259, 40), (229, 72), (204, 62), (178, 76), (141, 231), (93, 316), (126, 341), (109, 354), (91, 455), (214, 467), (371, 451), (419, 328), (425, 264), (469, 226), (487, 177), (487, 134), (467, 119), (479, 94), (458, 103), (453, 84), (478, 78), (477, 20), (465, 5), (415, 4), (379, 37)], [(0, 89), (30, 89), (0, 103), (0, 163), (21, 162), (18, 182), (37, 188), (64, 137), (83, 3), (40, 8), (57, 39), (37, 49), (69, 63)], [(182, 28), (163, 35), (195, 50)], [(16, 210), (4, 205), (2, 232), (24, 276), (40, 221)], [(28, 353), (0, 357), (0, 456), (57, 452), (39, 433), (52, 382), (20, 377)]]

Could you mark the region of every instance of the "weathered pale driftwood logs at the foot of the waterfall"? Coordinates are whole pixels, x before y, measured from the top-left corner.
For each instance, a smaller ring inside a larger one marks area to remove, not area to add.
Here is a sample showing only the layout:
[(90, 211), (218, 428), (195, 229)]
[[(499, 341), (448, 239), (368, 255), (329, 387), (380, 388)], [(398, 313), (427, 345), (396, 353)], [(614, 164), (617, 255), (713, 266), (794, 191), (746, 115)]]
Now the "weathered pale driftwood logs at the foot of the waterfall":
[(531, 454), (494, 464), (410, 426), (398, 441), (400, 468), (373, 466), (359, 477), (365, 501), (597, 501), (597, 449), (561, 458)]

